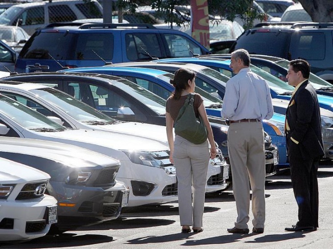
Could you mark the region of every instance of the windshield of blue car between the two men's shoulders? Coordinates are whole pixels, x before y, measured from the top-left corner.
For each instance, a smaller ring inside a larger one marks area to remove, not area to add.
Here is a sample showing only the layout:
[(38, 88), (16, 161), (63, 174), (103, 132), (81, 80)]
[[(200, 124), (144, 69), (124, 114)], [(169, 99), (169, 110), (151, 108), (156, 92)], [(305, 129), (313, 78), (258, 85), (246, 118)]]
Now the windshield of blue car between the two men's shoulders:
[(262, 76), (267, 81), (267, 84), (270, 89), (275, 91), (278, 94), (282, 94), (285, 92), (291, 92), (294, 91), (294, 87), (289, 86), (287, 83), (285, 83), (283, 80), (280, 80), (279, 78), (273, 76), (272, 74), (266, 72), (265, 70), (262, 70), (261, 68), (258, 68), (254, 65), (250, 65), (251, 70)]

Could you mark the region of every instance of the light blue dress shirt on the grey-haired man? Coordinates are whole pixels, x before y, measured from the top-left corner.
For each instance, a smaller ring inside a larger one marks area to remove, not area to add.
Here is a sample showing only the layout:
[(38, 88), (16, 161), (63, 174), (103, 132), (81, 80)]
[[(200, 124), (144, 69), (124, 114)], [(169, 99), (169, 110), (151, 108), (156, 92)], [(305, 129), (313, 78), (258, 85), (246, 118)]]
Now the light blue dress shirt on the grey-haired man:
[(270, 119), (273, 105), (267, 82), (250, 68), (242, 68), (227, 82), (222, 117), (230, 120)]

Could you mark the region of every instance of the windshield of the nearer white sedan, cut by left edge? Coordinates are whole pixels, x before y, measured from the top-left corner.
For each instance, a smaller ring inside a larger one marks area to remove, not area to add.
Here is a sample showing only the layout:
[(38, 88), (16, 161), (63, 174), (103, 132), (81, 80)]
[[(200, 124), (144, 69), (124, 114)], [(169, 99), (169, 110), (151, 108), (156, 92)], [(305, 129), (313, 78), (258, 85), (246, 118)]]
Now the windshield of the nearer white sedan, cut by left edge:
[[(0, 94), (0, 112), (25, 129), (35, 131), (64, 131), (67, 128), (48, 119), (41, 113)], [(44, 129), (44, 130), (43, 130)]]

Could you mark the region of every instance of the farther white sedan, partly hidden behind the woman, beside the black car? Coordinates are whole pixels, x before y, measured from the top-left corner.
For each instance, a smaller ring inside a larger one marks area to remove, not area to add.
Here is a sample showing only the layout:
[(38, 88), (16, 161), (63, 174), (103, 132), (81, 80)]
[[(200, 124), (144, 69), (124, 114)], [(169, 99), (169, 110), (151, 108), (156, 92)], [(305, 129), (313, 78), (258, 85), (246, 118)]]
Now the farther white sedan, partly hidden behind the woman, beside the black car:
[[(135, 137), (145, 137), (160, 141), (168, 148), (166, 127), (139, 122), (123, 122), (97, 111), (95, 108), (83, 103), (54, 88), (36, 83), (22, 83), (18, 85), (0, 84), (0, 92), (24, 105), (43, 113), (46, 116), (56, 116), (58, 122), (73, 129), (89, 129), (106, 131), (112, 134), (130, 134)], [(161, 165), (169, 173), (175, 173), (173, 165), (167, 159)], [(208, 165), (206, 192), (223, 190), (227, 187), (225, 181), (221, 182), (218, 175), (224, 174), (228, 178), (229, 165), (223, 156), (211, 160)], [(221, 172), (221, 168), (224, 169)]]

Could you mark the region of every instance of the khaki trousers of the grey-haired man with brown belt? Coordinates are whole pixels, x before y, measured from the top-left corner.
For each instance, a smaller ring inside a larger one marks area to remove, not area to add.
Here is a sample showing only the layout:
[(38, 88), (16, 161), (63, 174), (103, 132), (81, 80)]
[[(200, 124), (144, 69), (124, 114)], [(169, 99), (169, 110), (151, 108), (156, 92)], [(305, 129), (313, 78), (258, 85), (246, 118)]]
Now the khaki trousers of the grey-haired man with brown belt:
[[(237, 207), (237, 228), (248, 228), (250, 184), (254, 227), (265, 222), (265, 153), (261, 122), (231, 123), (228, 130), (228, 152)], [(250, 184), (249, 184), (250, 179)]]

